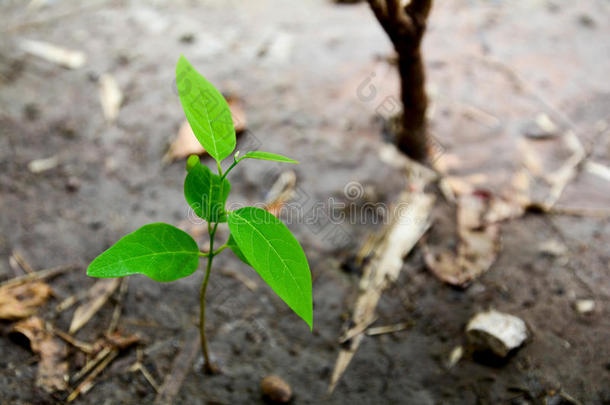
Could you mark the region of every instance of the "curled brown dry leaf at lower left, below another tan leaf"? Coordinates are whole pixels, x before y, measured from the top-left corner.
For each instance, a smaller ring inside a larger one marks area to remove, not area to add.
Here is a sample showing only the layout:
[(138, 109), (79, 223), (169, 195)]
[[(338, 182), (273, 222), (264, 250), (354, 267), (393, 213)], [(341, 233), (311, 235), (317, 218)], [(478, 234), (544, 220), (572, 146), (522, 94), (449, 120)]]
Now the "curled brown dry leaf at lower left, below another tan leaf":
[(18, 322), (11, 333), (23, 335), (30, 343), (32, 352), (40, 355), (37, 386), (49, 393), (68, 389), (68, 347), (45, 328), (42, 319), (31, 317)]

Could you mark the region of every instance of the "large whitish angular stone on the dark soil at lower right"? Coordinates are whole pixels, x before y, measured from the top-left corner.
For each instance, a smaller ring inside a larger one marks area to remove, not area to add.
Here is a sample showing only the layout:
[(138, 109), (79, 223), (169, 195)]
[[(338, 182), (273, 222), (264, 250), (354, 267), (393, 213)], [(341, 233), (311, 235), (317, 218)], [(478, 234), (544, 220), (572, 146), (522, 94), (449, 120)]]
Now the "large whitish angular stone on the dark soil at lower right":
[(527, 326), (516, 316), (495, 310), (476, 314), (466, 327), (469, 340), (478, 348), (499, 357), (521, 346), (527, 339)]

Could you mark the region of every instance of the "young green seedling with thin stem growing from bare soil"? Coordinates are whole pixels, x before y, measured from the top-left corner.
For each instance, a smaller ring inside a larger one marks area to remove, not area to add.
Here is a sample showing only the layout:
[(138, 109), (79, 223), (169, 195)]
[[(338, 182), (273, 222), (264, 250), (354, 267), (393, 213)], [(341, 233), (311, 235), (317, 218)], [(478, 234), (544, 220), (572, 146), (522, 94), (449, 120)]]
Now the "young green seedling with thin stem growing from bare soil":
[[(176, 84), (184, 114), (193, 133), (208, 154), (216, 160), (218, 174), (192, 155), (186, 163), (184, 197), (193, 211), (205, 219), (210, 236), (209, 251), (199, 250), (191, 236), (180, 229), (154, 223), (121, 238), (96, 257), (87, 268), (91, 277), (124, 277), (144, 274), (155, 281), (174, 281), (197, 270), (199, 258), (207, 259), (200, 293), (201, 350), (205, 369), (213, 372), (205, 337), (205, 292), (212, 262), (229, 248), (244, 263), (253, 267), (261, 278), (297, 315), (313, 328), (313, 301), (309, 264), (299, 242), (279, 219), (256, 207), (227, 211), (225, 204), (231, 184), (229, 172), (245, 159), (298, 163), (274, 153), (250, 151), (239, 156), (235, 149), (235, 129), (231, 111), (224, 97), (199, 74), (184, 56), (176, 65)], [(223, 172), (221, 162), (228, 156), (233, 162)], [(227, 223), (230, 236), (217, 249), (215, 235), (218, 224)]]

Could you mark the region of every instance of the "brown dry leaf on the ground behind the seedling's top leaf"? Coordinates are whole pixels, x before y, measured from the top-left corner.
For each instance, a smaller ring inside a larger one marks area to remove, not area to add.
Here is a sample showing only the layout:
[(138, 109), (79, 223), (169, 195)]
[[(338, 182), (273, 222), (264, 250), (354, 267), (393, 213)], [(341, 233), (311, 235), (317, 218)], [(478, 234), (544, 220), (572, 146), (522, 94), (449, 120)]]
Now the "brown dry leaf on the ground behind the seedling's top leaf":
[[(246, 129), (246, 114), (241, 103), (241, 100), (235, 96), (227, 96), (227, 103), (231, 109), (231, 118), (235, 126), (235, 133), (241, 134)], [(203, 155), (205, 149), (193, 133), (188, 121), (182, 122), (176, 138), (171, 143), (167, 153), (163, 156), (164, 163), (171, 163), (175, 160), (185, 159), (190, 155)]]

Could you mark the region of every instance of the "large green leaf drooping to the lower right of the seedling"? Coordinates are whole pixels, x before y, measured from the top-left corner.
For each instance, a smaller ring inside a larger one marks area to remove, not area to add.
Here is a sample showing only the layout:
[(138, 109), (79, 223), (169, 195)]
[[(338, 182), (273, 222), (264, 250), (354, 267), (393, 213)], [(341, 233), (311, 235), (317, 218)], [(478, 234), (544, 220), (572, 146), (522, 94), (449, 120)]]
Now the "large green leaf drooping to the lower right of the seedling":
[(231, 235), (254, 270), (313, 328), (309, 264), (290, 230), (260, 208), (240, 208), (227, 217)]

